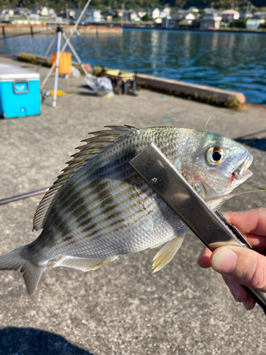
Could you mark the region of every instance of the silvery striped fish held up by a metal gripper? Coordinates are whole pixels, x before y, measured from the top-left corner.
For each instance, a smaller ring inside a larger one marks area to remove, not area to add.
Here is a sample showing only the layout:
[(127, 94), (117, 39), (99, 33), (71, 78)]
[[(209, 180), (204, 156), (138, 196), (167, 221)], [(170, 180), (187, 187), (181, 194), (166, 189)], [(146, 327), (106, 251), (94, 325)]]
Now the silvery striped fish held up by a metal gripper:
[(189, 128), (106, 126), (85, 139), (41, 200), (35, 241), (0, 256), (0, 270), (20, 270), (28, 293), (48, 261), (96, 270), (118, 256), (161, 246), (153, 271), (169, 263), (188, 226), (140, 178), (129, 161), (152, 141), (211, 209), (250, 178), (253, 155), (226, 136)]

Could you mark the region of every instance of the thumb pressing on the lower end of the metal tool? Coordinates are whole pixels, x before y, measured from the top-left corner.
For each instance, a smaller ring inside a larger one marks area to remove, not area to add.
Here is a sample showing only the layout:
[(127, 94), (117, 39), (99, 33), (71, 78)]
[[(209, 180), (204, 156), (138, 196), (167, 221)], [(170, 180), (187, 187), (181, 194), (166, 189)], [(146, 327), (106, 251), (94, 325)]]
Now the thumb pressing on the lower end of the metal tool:
[(212, 253), (210, 262), (215, 271), (236, 283), (266, 292), (266, 257), (256, 251), (223, 246)]

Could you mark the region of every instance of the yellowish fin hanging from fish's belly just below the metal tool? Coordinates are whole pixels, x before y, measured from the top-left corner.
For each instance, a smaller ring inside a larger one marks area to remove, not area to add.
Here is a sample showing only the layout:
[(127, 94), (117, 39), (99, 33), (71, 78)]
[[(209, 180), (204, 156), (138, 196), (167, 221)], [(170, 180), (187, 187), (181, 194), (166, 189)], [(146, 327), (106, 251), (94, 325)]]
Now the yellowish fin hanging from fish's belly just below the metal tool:
[(153, 258), (153, 273), (159, 271), (163, 268), (167, 263), (170, 263), (172, 258), (177, 253), (178, 249), (180, 248), (182, 241), (184, 240), (185, 232), (177, 236), (176, 238), (168, 241), (165, 246), (158, 251), (158, 253)]

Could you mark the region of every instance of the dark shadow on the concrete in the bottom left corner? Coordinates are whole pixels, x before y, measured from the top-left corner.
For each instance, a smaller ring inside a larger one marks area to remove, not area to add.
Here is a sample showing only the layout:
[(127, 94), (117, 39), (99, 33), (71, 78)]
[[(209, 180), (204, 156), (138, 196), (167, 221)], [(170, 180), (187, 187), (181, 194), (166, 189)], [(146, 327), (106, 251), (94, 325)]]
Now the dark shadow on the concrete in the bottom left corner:
[(0, 329), (0, 355), (93, 355), (60, 335), (33, 328)]

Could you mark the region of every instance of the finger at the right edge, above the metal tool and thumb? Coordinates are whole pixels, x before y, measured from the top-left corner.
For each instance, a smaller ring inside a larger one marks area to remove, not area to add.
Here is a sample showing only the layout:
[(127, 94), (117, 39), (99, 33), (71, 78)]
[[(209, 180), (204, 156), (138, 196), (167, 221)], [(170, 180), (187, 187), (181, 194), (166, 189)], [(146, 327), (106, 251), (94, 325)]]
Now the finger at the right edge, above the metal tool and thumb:
[(236, 226), (240, 233), (265, 236), (265, 208), (249, 209), (242, 212), (224, 212), (223, 215), (229, 223)]

